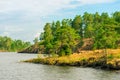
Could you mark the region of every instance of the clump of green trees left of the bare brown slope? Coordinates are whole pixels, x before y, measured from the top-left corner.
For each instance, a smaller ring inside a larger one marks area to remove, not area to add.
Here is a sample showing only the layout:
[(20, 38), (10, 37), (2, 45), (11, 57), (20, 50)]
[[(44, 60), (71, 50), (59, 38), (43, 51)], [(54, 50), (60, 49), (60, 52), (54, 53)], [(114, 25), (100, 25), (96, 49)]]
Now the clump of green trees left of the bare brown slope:
[(50, 25), (47, 23), (44, 27), (44, 47), (47, 54), (58, 54), (60, 56), (69, 55), (77, 44), (79, 35), (70, 26), (69, 19), (63, 19), (62, 26), (59, 21)]

